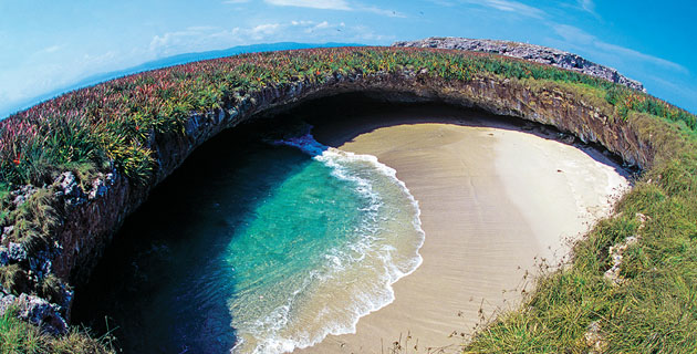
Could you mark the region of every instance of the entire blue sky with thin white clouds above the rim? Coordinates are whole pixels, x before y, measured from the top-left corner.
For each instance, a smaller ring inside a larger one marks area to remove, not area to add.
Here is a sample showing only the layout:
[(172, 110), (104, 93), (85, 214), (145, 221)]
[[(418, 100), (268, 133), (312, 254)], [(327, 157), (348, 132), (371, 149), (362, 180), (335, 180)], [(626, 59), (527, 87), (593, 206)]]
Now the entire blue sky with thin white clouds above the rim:
[(697, 112), (696, 18), (694, 0), (0, 0), (0, 118), (86, 76), (174, 54), (431, 35), (575, 52)]

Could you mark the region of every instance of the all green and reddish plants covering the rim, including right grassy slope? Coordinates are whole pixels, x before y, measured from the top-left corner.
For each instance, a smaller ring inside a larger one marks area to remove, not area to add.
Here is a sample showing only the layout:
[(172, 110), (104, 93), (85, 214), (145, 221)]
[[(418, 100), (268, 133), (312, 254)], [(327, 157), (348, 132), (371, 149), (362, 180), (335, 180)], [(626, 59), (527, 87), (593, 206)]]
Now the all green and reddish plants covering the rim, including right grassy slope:
[[(616, 121), (651, 117), (637, 134), (655, 143), (656, 156), (615, 215), (575, 246), (572, 267), (541, 277), (523, 306), (480, 330), (468, 351), (583, 352), (589, 346), (610, 352), (697, 351), (695, 115), (601, 79), (490, 54), (394, 48), (245, 54), (64, 94), (0, 122), (0, 230), (14, 226), (3, 243), (32, 246), (51, 238), (54, 218), (41, 199), (51, 196), (40, 195), (15, 208), (10, 191), (21, 186), (42, 188), (65, 170), (89, 180), (114, 169), (133, 184), (147, 185), (157, 168), (153, 139), (184, 134), (193, 113), (235, 105), (264, 87), (404, 72), (443, 83), (524, 82), (582, 93)], [(624, 251), (620, 269), (624, 281), (616, 285), (604, 277), (613, 266), (608, 248), (630, 236), (637, 236), (638, 242)], [(21, 290), (15, 280), (22, 271), (17, 264), (0, 268), (8, 292)], [(55, 281), (45, 277), (30, 291), (50, 299)], [(589, 332), (592, 323), (595, 330)], [(596, 335), (591, 340), (589, 333)], [(3, 346), (12, 345), (7, 336), (0, 339)], [(15, 348), (25, 351), (21, 343)]]

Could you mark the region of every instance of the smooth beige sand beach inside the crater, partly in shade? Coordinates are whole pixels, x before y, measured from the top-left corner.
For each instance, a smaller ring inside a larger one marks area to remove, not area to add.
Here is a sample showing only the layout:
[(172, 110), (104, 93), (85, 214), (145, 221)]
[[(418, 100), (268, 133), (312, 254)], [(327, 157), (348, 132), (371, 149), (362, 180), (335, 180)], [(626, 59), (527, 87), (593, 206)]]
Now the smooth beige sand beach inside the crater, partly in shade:
[(399, 340), (409, 353), (457, 352), (481, 315), (514, 305), (526, 272), (541, 259), (556, 263), (627, 187), (601, 153), (533, 131), (454, 110), (316, 126), (318, 140), (397, 170), (426, 240), (393, 303), (362, 317), (355, 334), (295, 353), (389, 353)]

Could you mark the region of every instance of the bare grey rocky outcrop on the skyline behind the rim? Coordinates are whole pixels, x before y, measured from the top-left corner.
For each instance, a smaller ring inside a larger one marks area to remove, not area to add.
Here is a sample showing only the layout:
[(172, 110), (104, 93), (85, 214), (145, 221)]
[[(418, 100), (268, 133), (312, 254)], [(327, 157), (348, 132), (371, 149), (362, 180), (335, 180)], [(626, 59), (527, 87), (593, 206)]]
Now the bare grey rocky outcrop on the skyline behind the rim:
[(541, 64), (549, 64), (566, 70), (578, 71), (586, 75), (601, 77), (610, 82), (625, 85), (630, 88), (646, 92), (641, 82), (620, 74), (615, 69), (593, 63), (573, 53), (542, 45), (497, 40), (472, 40), (454, 37), (431, 37), (420, 41), (395, 42), (392, 45), (457, 49), (513, 56)]

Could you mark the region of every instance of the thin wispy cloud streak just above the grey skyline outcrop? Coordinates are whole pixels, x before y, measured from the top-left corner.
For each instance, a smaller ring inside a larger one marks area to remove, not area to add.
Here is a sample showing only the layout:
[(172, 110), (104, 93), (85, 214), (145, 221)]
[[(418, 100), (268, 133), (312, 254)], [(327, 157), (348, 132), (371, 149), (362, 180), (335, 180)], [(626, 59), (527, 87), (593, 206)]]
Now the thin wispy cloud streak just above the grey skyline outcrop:
[(559, 34), (561, 38), (564, 39), (565, 43), (572, 46), (592, 52), (599, 56), (615, 58), (616, 59), (615, 61), (622, 60), (622, 59), (630, 59), (634, 61), (658, 65), (664, 69), (669, 69), (669, 70), (682, 72), (685, 74), (689, 73), (687, 67), (680, 64), (674, 63), (672, 61), (668, 61), (658, 56), (645, 54), (630, 48), (604, 42), (600, 40), (599, 38), (596, 38), (595, 35), (590, 34), (573, 25), (554, 24), (552, 25), (552, 28), (554, 29), (554, 32), (556, 32), (556, 34)]

